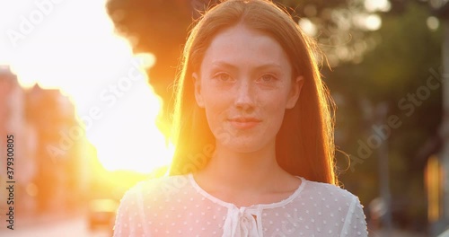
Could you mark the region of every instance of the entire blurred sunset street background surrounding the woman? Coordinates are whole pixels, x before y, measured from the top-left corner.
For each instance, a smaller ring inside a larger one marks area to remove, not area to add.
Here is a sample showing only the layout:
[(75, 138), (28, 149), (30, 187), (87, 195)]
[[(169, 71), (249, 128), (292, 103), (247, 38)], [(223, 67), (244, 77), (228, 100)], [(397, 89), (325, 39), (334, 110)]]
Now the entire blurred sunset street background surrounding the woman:
[[(371, 236), (444, 233), (449, 1), (275, 2), (322, 50), (339, 180), (365, 206)], [(170, 162), (175, 68), (213, 3), (0, 0), (2, 213), (7, 135), (15, 181), (14, 230), (2, 221), (0, 235), (111, 235), (124, 192)]]

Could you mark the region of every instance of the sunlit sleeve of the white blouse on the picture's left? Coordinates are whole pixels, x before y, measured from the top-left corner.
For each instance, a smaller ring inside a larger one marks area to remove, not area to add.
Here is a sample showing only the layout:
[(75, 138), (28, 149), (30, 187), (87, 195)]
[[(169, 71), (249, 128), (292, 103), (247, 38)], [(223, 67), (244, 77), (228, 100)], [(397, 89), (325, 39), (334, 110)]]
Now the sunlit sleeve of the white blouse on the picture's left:
[(113, 237), (149, 236), (144, 229), (145, 216), (142, 206), (142, 194), (139, 187), (129, 189), (121, 198)]

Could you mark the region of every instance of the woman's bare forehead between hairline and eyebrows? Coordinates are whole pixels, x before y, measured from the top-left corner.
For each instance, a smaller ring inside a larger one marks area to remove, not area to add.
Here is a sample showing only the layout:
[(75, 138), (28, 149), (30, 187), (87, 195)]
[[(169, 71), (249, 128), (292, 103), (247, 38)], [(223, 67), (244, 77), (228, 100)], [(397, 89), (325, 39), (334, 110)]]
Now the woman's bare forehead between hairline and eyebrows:
[(286, 52), (269, 34), (239, 24), (220, 31), (206, 50), (201, 67), (225, 62), (235, 66), (274, 64), (291, 68)]

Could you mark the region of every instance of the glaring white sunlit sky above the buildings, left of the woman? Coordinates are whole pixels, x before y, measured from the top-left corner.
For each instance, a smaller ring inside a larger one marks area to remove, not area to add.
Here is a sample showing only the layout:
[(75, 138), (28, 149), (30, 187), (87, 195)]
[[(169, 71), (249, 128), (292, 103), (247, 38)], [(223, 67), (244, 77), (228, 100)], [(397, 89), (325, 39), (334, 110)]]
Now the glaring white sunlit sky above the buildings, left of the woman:
[(172, 149), (155, 126), (161, 100), (147, 83), (150, 55), (133, 55), (104, 0), (0, 0), (0, 65), (24, 88), (39, 83), (75, 103), (86, 136), (110, 171), (148, 172)]

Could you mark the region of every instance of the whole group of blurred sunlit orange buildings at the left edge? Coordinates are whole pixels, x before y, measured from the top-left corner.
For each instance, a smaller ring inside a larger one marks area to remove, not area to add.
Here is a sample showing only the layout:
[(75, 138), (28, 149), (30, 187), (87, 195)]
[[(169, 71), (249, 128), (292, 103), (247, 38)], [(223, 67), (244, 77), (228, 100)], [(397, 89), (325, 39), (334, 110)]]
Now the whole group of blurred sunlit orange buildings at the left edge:
[[(58, 90), (25, 90), (8, 66), (0, 66), (0, 148), (14, 137), (14, 209), (21, 215), (66, 212), (83, 202), (89, 188), (89, 150), (74, 104)], [(0, 181), (6, 153), (0, 154)], [(2, 187), (3, 187), (2, 185)], [(6, 200), (7, 189), (0, 189)], [(5, 209), (6, 202), (0, 202)]]

